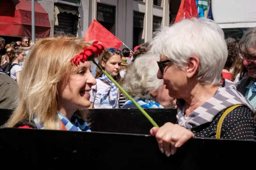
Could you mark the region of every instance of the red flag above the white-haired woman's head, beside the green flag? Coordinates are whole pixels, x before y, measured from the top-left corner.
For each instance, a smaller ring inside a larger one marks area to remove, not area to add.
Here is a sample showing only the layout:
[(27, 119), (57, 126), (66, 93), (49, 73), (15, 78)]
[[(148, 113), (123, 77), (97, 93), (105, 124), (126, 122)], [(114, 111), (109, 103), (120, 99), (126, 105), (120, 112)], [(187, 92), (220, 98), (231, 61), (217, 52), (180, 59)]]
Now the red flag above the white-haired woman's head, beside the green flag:
[(198, 11), (196, 8), (196, 0), (181, 0), (180, 8), (177, 13), (174, 23), (180, 22), (186, 18), (198, 18)]

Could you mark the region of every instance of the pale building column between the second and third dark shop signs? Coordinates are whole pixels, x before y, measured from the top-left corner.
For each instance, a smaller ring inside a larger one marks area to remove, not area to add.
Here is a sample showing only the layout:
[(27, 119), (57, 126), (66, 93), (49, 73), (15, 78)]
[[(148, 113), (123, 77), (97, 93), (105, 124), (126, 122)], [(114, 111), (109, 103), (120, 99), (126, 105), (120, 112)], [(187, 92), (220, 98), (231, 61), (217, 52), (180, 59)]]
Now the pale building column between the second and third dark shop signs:
[(153, 30), (153, 0), (146, 0), (145, 42), (151, 41)]

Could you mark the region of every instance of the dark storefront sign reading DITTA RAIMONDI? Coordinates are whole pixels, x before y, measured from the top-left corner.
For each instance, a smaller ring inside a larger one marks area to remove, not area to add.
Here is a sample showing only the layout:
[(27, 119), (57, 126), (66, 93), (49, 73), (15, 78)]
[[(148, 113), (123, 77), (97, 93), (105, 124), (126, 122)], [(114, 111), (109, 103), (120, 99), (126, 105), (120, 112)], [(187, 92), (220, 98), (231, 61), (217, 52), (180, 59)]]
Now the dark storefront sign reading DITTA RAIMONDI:
[(97, 3), (97, 21), (115, 23), (116, 7)]

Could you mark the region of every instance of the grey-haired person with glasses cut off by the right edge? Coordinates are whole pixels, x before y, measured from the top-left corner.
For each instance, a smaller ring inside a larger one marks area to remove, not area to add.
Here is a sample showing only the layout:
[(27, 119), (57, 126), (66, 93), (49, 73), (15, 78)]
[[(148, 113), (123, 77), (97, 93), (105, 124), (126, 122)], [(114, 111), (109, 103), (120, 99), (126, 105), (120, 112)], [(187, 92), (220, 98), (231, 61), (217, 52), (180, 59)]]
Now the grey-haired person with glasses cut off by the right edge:
[(240, 48), (239, 57), (243, 60), (248, 70), (248, 78), (239, 81), (237, 91), (247, 98), (256, 108), (256, 27), (250, 28), (238, 43)]

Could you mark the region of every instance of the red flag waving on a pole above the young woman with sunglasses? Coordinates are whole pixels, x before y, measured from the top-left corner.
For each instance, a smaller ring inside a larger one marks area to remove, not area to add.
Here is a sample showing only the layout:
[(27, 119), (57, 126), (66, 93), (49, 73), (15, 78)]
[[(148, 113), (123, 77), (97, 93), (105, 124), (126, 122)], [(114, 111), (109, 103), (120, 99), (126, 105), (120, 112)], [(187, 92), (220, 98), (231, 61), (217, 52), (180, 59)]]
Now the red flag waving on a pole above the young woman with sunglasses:
[(95, 19), (93, 19), (87, 32), (85, 33), (84, 40), (88, 42), (98, 40), (102, 43), (102, 45), (105, 48), (118, 49), (123, 45), (122, 41), (120, 41), (115, 35), (110, 33), (104, 26), (102, 26)]

